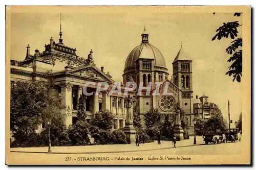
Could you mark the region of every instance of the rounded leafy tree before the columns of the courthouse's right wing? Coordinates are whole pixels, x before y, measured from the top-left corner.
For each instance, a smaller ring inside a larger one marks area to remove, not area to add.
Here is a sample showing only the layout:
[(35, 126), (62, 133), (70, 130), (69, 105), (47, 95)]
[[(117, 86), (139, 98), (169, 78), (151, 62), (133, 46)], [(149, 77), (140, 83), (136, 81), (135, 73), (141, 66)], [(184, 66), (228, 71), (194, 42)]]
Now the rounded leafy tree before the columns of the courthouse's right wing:
[(99, 129), (111, 130), (114, 126), (114, 116), (109, 110), (102, 110), (95, 113), (91, 124)]

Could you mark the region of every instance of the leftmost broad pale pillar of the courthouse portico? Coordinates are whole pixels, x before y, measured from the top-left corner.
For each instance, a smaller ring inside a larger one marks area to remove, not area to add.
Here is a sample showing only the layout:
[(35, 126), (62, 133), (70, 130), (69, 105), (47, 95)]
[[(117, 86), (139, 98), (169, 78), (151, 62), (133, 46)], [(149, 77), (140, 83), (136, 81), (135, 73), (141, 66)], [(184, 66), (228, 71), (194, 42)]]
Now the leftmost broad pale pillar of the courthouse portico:
[(61, 83), (61, 103), (66, 105), (67, 108), (64, 112), (67, 114), (66, 117), (66, 126), (72, 125), (72, 87), (71, 83)]

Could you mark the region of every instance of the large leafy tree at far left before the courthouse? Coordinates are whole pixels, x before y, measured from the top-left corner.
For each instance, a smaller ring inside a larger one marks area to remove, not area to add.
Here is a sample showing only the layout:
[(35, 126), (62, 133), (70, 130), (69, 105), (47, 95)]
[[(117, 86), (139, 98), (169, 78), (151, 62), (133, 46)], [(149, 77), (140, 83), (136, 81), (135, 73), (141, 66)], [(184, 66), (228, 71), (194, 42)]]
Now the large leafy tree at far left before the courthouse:
[(27, 141), (29, 134), (34, 133), (40, 124), (41, 109), (37, 105), (40, 101), (37, 87), (40, 86), (39, 82), (17, 81), (11, 87), (10, 129), (16, 142)]

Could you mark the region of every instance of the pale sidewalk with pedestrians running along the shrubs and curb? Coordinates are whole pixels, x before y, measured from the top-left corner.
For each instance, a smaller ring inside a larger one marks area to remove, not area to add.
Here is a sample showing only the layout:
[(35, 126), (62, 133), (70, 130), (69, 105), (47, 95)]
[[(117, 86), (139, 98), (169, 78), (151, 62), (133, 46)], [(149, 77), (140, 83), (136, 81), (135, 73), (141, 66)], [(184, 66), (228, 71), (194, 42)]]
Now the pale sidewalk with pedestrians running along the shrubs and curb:
[[(189, 136), (187, 140), (177, 141), (176, 148), (191, 147), (203, 144), (202, 136), (197, 136), (197, 144), (194, 143), (194, 136)], [(132, 144), (107, 144), (107, 145), (88, 145), (88, 146), (72, 146), (72, 147), (52, 147), (52, 154), (96, 154), (96, 153), (122, 153), (122, 152), (138, 152), (152, 151), (173, 148), (172, 141), (157, 141), (152, 143), (142, 143), (139, 147)], [(26, 152), (26, 153), (48, 153), (48, 147), (35, 148), (11, 148), (11, 152)]]

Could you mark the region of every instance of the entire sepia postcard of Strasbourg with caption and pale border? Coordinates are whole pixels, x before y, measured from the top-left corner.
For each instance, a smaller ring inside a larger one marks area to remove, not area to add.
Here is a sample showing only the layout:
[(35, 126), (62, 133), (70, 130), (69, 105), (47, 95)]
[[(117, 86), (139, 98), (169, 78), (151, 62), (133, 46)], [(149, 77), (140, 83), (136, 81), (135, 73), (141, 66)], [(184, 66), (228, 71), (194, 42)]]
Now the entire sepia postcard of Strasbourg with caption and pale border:
[(6, 6), (6, 164), (250, 164), (250, 6)]

